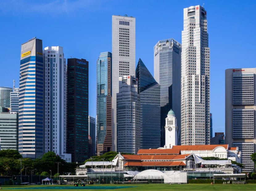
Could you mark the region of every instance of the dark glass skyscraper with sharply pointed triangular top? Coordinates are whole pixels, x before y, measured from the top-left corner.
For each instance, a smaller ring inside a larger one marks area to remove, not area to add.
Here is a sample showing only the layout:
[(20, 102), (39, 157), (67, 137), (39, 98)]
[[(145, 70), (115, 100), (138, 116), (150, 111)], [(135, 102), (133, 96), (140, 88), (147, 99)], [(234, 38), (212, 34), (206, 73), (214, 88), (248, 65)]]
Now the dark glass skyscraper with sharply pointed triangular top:
[(136, 68), (140, 95), (140, 149), (160, 147), (160, 85), (141, 59)]

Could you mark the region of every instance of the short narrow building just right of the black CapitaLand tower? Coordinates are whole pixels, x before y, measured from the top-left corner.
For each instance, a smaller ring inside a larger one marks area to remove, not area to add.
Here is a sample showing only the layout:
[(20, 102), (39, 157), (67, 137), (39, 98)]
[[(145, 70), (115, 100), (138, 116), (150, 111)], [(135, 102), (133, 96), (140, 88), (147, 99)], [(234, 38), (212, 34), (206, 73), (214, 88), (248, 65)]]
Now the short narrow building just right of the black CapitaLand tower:
[(95, 156), (96, 154), (96, 119), (92, 116), (88, 116), (88, 122), (89, 122), (89, 136), (88, 141), (91, 142), (91, 150), (89, 149), (89, 157)]

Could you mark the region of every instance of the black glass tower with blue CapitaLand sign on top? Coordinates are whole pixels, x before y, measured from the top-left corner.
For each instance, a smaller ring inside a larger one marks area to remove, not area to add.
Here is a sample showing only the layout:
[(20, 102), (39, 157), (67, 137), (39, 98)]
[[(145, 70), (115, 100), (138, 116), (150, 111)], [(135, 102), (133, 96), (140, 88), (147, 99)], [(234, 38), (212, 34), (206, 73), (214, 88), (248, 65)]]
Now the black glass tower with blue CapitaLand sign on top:
[(67, 153), (72, 162), (88, 158), (88, 64), (85, 59), (68, 59)]

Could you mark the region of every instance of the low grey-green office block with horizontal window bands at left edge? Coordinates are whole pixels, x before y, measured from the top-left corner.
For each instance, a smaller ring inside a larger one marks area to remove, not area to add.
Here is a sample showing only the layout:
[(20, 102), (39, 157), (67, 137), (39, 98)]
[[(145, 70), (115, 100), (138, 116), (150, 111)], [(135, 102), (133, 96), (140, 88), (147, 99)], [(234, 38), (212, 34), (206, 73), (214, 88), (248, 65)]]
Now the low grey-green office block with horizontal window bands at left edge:
[(18, 150), (18, 113), (0, 107), (0, 150)]

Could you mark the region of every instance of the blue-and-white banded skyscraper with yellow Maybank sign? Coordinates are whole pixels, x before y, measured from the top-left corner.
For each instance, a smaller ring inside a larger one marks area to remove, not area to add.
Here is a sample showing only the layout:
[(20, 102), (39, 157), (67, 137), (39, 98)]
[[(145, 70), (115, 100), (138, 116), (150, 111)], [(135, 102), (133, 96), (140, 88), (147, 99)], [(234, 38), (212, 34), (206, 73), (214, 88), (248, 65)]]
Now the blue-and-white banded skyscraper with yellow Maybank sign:
[(42, 40), (34, 37), (20, 55), (19, 153), (27, 158), (43, 154), (43, 70)]

